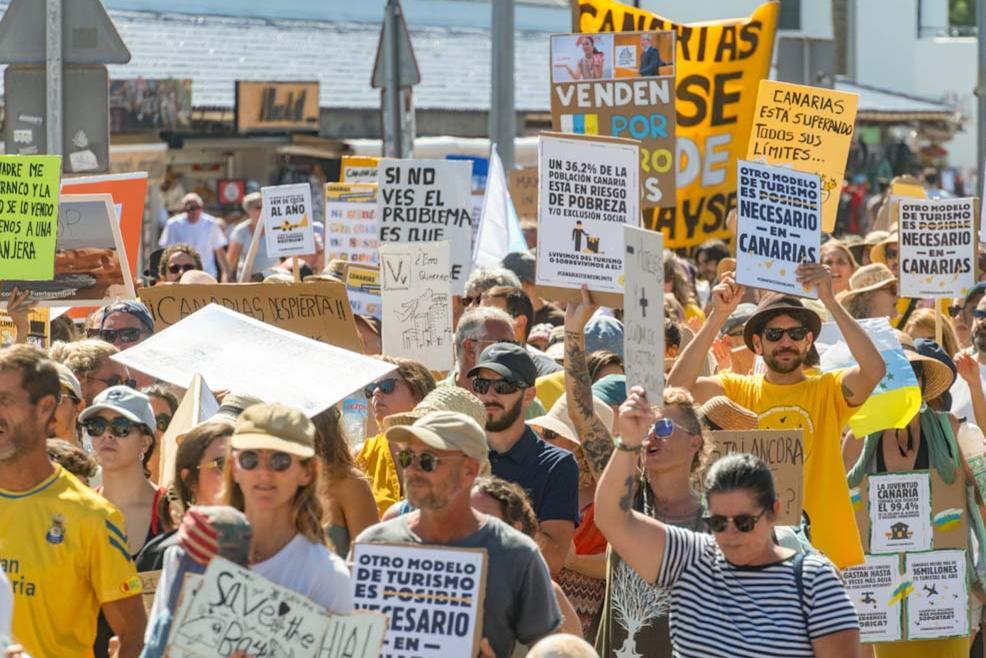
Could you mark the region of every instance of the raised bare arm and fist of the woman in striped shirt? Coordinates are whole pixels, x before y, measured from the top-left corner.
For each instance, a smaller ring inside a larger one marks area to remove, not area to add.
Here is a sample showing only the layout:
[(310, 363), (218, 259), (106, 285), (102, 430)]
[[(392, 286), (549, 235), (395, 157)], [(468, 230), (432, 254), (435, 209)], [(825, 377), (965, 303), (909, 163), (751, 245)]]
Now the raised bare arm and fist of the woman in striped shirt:
[[(644, 391), (634, 386), (620, 407), (620, 437), (624, 445), (640, 446), (654, 412)], [(664, 559), (664, 524), (631, 509), (637, 483), (639, 451), (614, 450), (596, 486), (596, 526), (613, 550), (649, 583), (657, 579)]]

